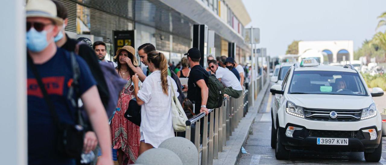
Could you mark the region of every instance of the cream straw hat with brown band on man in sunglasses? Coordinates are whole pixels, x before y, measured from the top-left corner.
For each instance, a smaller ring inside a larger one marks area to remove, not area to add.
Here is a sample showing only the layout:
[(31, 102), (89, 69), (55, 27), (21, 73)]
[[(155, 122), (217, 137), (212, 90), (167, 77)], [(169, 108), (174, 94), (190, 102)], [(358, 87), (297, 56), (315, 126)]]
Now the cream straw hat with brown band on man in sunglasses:
[(51, 0), (29, 0), (25, 6), (26, 17), (51, 19), (56, 25), (63, 25), (63, 19), (57, 17), (56, 5)]

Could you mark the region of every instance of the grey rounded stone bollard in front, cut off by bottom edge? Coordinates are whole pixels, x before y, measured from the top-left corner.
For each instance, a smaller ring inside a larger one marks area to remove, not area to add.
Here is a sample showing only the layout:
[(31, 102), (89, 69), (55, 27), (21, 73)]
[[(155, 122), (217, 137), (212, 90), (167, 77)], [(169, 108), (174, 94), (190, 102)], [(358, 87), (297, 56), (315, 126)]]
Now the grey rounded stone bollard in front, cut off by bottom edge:
[(135, 164), (182, 165), (182, 161), (178, 155), (171, 150), (165, 148), (152, 148), (139, 155)]

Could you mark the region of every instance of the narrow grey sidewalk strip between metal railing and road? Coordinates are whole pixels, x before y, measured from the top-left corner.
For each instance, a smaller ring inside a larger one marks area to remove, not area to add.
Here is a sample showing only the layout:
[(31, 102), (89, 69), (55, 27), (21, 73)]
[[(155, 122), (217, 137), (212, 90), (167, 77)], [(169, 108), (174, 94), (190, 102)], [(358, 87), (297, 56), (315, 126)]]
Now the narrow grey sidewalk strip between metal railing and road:
[(249, 130), (251, 129), (252, 123), (257, 116), (257, 112), (262, 105), (263, 98), (270, 88), (270, 82), (264, 85), (263, 89), (257, 95), (255, 106), (249, 108), (248, 113), (244, 118), (240, 120), (239, 125), (232, 132), (232, 136), (227, 140), (226, 146), (223, 146), (223, 152), (218, 153), (218, 159), (213, 159), (213, 165), (236, 165), (240, 155), (241, 146), (245, 144), (248, 138)]

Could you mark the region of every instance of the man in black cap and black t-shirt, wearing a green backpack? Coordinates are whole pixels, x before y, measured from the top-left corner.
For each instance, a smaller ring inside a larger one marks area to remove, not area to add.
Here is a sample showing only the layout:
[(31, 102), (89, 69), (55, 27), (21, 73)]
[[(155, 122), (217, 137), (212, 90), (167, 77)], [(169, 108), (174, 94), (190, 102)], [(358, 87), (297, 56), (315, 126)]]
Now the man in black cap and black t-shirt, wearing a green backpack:
[(188, 91), (188, 99), (195, 101), (195, 114), (201, 112), (208, 114), (208, 108), (206, 106), (208, 87), (205, 83), (208, 74), (207, 71), (200, 66), (201, 53), (197, 48), (191, 48), (185, 56), (188, 57), (188, 65), (191, 68), (188, 86), (184, 85), (185, 91)]

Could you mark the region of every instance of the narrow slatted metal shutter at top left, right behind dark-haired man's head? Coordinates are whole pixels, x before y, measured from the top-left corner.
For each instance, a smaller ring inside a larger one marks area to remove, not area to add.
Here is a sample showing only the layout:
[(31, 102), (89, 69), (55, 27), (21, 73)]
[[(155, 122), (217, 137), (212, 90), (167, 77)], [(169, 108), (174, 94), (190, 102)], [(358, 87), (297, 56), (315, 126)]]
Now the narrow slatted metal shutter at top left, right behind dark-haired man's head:
[(63, 5), (67, 8), (68, 24), (66, 26), (66, 31), (76, 33), (76, 3), (70, 0), (58, 0), (58, 1), (63, 3)]

